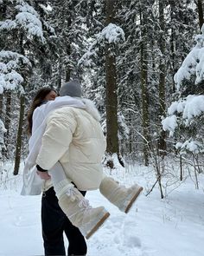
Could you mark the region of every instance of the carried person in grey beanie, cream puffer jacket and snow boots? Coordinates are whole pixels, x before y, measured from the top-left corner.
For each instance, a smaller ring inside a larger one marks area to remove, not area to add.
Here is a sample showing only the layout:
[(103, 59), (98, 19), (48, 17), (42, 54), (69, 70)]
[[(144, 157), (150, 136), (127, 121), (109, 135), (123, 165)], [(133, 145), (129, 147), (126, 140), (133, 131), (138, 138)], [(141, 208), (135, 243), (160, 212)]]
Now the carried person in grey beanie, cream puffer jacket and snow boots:
[[(80, 82), (66, 82), (60, 96), (70, 96), (82, 102), (57, 108), (46, 117), (46, 128), (36, 157), (38, 172), (51, 175), (59, 205), (74, 226), (90, 238), (109, 217), (105, 207), (90, 207), (79, 190), (100, 190), (108, 200), (124, 213), (143, 190), (137, 184), (130, 188), (119, 186), (105, 177), (102, 158), (106, 140), (99, 124), (99, 113), (93, 102), (81, 98)], [(74, 187), (74, 185), (76, 187)]]

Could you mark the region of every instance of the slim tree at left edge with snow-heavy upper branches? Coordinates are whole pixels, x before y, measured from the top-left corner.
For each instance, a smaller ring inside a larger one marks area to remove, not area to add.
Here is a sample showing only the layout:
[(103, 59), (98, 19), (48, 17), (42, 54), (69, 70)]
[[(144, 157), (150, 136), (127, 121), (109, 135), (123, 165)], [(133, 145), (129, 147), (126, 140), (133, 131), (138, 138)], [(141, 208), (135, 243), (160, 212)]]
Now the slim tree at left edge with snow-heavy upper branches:
[[(30, 3), (34, 4), (33, 1)], [(46, 29), (48, 30), (48, 27)], [(2, 35), (6, 37), (3, 43), (4, 49), (7, 51), (1, 51), (2, 57), (4, 59), (6, 57), (3, 63), (10, 68), (6, 71), (1, 70), (5, 81), (4, 88), (16, 91), (20, 100), (14, 167), (14, 174), (18, 174), (22, 149), (25, 91), (31, 69), (30, 61), (32, 64), (36, 63), (37, 59), (39, 62), (41, 61), (42, 56), (46, 54), (46, 49), (48, 49), (48, 40), (43, 35), (41, 17), (29, 3), (22, 0), (11, 1), (10, 4), (6, 5), (6, 14), (3, 21), (0, 22), (0, 30), (3, 32)], [(52, 33), (53, 31), (49, 32)], [(13, 40), (13, 36), (16, 36), (16, 41)], [(23, 64), (25, 64), (24, 67)], [(10, 82), (10, 79), (7, 78), (8, 72), (12, 75), (14, 82), (12, 80)]]

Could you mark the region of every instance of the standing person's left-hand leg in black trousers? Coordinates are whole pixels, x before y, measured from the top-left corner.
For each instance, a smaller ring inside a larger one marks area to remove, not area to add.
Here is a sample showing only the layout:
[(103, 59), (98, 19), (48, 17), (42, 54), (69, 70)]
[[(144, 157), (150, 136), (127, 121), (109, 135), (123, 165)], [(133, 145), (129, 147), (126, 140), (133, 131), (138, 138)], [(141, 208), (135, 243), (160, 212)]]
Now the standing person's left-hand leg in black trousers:
[(49, 188), (41, 198), (41, 230), (45, 255), (66, 255), (63, 241), (66, 218), (58, 205), (54, 188)]

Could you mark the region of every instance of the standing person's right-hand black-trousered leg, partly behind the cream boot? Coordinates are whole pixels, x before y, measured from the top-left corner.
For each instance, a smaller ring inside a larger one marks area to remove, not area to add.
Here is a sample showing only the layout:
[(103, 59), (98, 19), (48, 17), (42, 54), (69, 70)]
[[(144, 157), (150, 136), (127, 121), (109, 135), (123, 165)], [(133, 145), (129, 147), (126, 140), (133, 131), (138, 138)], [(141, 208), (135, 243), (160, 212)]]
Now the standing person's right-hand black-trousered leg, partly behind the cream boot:
[[(86, 192), (81, 191), (81, 194), (85, 196)], [(68, 218), (66, 218), (64, 223), (64, 231), (66, 233), (67, 240), (69, 243), (67, 255), (86, 255), (86, 240), (82, 233), (80, 233), (80, 229), (76, 226), (73, 226), (70, 220), (68, 220)]]

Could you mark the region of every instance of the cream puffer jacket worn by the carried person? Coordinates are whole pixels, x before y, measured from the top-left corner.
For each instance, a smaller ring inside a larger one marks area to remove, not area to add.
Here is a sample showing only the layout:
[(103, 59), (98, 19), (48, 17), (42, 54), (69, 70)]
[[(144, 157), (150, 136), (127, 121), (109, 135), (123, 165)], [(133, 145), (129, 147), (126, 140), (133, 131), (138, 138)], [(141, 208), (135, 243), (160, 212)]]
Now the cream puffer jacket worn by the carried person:
[(103, 177), (105, 148), (99, 113), (93, 105), (63, 107), (48, 115), (36, 164), (49, 170), (60, 161), (78, 189), (93, 190), (99, 188)]

